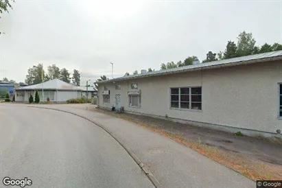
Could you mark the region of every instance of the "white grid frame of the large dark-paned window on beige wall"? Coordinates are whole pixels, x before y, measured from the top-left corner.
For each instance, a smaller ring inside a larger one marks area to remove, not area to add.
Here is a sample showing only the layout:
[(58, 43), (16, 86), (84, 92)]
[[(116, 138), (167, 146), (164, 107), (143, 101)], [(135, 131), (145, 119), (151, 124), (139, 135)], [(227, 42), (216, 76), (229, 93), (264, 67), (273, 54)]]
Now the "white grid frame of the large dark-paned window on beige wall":
[[(201, 94), (192, 94), (191, 91), (193, 88), (200, 88)], [(178, 94), (172, 94), (172, 89), (178, 89)], [(181, 89), (189, 89), (189, 94), (181, 94)], [(172, 95), (178, 95), (178, 101), (172, 101)], [(181, 95), (189, 95), (189, 108), (180, 108), (181, 106)], [(192, 108), (192, 95), (200, 95), (201, 102), (193, 102), (193, 103), (200, 103), (201, 109), (193, 109)], [(178, 108), (172, 107), (172, 102), (178, 102)], [(202, 86), (179, 86), (179, 87), (169, 87), (169, 108), (173, 110), (188, 110), (188, 111), (196, 111), (202, 112)]]

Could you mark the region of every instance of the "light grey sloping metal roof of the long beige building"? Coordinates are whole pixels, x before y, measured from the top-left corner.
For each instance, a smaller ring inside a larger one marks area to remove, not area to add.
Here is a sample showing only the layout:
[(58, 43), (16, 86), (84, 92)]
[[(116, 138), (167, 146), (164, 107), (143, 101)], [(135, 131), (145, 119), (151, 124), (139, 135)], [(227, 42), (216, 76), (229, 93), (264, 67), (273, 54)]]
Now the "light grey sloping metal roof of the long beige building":
[(122, 80), (133, 80), (138, 78), (146, 78), (152, 76), (159, 76), (159, 75), (167, 75), (167, 74), (174, 74), (174, 73), (183, 73), (187, 71), (199, 71), (204, 69), (215, 69), (220, 67), (231, 67), (237, 66), (240, 64), (251, 64), (255, 62), (267, 62), (273, 60), (282, 60), (282, 50), (280, 51), (271, 51), (263, 54), (255, 54), (250, 56), (242, 56), (238, 58), (230, 58), (224, 60), (217, 60), (212, 62), (204, 62), (200, 64), (191, 64), (184, 67), (177, 67), (174, 69), (164, 69), (159, 71), (152, 71), (147, 73), (140, 73), (136, 75), (127, 75), (119, 78), (113, 78), (110, 80), (103, 80), (101, 82), (95, 83), (108, 83), (108, 82), (115, 82), (115, 81), (122, 81)]

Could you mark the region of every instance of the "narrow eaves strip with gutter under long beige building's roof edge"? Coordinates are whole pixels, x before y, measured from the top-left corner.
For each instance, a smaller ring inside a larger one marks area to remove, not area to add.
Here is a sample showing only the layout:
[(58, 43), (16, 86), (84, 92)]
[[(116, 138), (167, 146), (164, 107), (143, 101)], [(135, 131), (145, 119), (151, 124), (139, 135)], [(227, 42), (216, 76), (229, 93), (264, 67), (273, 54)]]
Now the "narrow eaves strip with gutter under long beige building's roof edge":
[(274, 61), (274, 60), (282, 60), (282, 56), (277, 56), (277, 57), (272, 57), (272, 58), (261, 58), (257, 60), (247, 60), (247, 61), (239, 61), (239, 62), (232, 62), (232, 63), (226, 63), (226, 64), (215, 64), (215, 65), (209, 65), (205, 67), (195, 67), (192, 69), (180, 69), (176, 71), (167, 71), (167, 72), (161, 72), (161, 73), (152, 73), (152, 74), (145, 74), (145, 75), (139, 75), (131, 78), (115, 78), (111, 80), (104, 80), (101, 82), (94, 82), (96, 84), (104, 84), (108, 82), (114, 82), (114, 81), (122, 81), (122, 80), (134, 80), (134, 79), (139, 79), (139, 78), (147, 78), (147, 77), (153, 77), (153, 76), (158, 76), (158, 75), (169, 75), (169, 74), (174, 74), (174, 73), (185, 73), (185, 72), (190, 72), (190, 71), (202, 71), (202, 70), (207, 70), (207, 69), (217, 69), (217, 68), (222, 68), (222, 67), (233, 67), (237, 65), (242, 65), (242, 64), (252, 64), (256, 62), (268, 62), (268, 61)]

